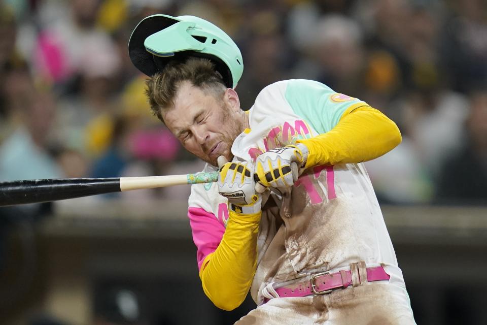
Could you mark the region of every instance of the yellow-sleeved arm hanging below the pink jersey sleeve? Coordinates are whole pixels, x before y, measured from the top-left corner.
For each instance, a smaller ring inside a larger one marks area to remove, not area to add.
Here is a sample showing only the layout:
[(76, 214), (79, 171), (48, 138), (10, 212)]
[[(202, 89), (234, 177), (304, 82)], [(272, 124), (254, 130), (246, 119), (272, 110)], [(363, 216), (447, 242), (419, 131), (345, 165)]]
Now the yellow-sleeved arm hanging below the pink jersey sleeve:
[(218, 308), (233, 310), (243, 302), (257, 266), (257, 235), (261, 212), (230, 211), (222, 241), (201, 266), (203, 291)]

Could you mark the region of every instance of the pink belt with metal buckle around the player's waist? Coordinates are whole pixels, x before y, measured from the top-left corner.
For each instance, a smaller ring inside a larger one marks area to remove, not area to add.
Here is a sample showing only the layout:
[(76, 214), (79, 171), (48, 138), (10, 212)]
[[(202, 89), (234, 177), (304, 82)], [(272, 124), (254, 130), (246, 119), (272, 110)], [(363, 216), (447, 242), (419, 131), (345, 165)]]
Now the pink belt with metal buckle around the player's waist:
[[(367, 268), (367, 279), (360, 279), (361, 282), (370, 281), (382, 281), (389, 280), (391, 276), (386, 273), (384, 267), (370, 267)], [(289, 286), (283, 286), (275, 289), (275, 292), (279, 297), (305, 297), (311, 294), (324, 295), (331, 293), (332, 289), (346, 288), (352, 285), (352, 273), (351, 271), (342, 270), (336, 273), (318, 273), (311, 277), (310, 280), (300, 283), (295, 283)], [(355, 286), (355, 285), (354, 285)], [(264, 300), (267, 302), (268, 300)]]

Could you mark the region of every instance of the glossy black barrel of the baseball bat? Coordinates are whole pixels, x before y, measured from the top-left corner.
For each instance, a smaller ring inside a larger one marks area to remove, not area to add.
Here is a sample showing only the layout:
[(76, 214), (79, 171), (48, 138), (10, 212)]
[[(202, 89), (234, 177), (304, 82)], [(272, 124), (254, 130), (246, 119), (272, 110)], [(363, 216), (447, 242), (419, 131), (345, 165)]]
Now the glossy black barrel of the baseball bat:
[(120, 178), (34, 179), (0, 183), (0, 207), (120, 191)]

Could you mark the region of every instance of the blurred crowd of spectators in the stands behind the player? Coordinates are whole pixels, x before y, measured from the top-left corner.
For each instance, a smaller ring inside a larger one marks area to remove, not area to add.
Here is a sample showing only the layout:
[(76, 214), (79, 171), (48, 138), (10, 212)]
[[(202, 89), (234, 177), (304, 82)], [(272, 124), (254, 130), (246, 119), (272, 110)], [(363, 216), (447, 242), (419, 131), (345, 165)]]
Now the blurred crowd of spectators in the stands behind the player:
[(0, 0), (0, 181), (202, 169), (151, 116), (128, 57), (131, 31), (156, 13), (205, 18), (235, 40), (243, 109), (266, 85), (302, 78), (392, 118), (402, 143), (366, 163), (381, 203), (487, 205), (484, 0)]

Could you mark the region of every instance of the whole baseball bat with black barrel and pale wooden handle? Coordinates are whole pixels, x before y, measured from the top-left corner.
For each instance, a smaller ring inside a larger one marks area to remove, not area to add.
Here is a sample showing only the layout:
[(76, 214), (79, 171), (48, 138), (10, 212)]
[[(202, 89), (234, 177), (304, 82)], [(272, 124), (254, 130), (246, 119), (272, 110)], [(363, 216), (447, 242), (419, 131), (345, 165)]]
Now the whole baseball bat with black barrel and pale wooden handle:
[(0, 183), (0, 207), (74, 199), (132, 189), (211, 183), (217, 180), (218, 171), (169, 176), (59, 178), (10, 181)]

